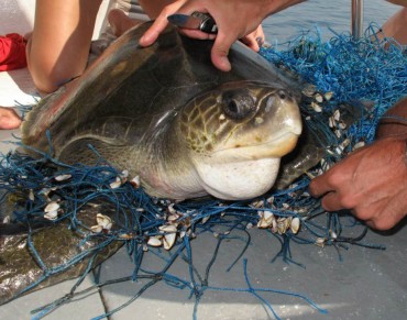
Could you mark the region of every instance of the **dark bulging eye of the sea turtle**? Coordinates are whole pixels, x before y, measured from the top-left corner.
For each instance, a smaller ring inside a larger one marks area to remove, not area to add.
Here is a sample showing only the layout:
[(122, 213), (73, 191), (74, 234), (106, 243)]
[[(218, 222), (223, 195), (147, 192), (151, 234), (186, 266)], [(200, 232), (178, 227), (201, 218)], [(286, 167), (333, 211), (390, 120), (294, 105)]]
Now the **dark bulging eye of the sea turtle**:
[(231, 119), (244, 119), (255, 108), (254, 99), (246, 91), (229, 91), (222, 96), (223, 112)]

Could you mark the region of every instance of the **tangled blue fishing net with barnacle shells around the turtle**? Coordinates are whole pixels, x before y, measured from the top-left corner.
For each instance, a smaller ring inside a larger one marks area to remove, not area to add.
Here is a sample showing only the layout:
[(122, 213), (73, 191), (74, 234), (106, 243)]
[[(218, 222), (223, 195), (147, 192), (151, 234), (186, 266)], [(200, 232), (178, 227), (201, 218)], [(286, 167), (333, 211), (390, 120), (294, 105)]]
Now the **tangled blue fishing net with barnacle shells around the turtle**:
[[(264, 293), (292, 295), (326, 312), (300, 294), (256, 288), (251, 284), (249, 263), (244, 257), (251, 240), (248, 230), (257, 228), (257, 232), (271, 233), (275, 239), (274, 244), (280, 246), (275, 258), (298, 266), (301, 263), (292, 256), (292, 245), (333, 246), (340, 258), (340, 249), (350, 244), (383, 249), (365, 240), (367, 229), (351, 214), (324, 212), (320, 201), (307, 191), (311, 177), (323, 173), (361, 144), (371, 143), (380, 118), (407, 92), (407, 57), (403, 47), (386, 37), (380, 40), (378, 33), (378, 27), (372, 24), (359, 41), (353, 41), (349, 34), (336, 33), (331, 40), (322, 41), (319, 30), (316, 30), (304, 32), (287, 43), (261, 49), (261, 55), (271, 63), (294, 77), (299, 75), (302, 81), (310, 85), (301, 112), (307, 128), (317, 133), (316, 136), (326, 145), (326, 154), (316, 167), (305, 173), (289, 188), (272, 190), (251, 201), (226, 202), (208, 198), (174, 202), (155, 199), (139, 188), (138, 181), (128, 177), (127, 173), (118, 172), (102, 158), (98, 165), (90, 167), (61, 163), (52, 156), (52, 152), (30, 150), (31, 154), (36, 154), (34, 157), (19, 152), (3, 155), (0, 168), (2, 205), (10, 207), (13, 203), (8, 219), (28, 225), (28, 247), (42, 269), (41, 276), (12, 298), (85, 261), (85, 271), (70, 293), (34, 310), (34, 319), (44, 317), (89, 290), (142, 279), (146, 284), (128, 302), (95, 319), (106, 318), (124, 308), (160, 282), (189, 290), (190, 297), (196, 300), (194, 317), (207, 290), (249, 293), (276, 319), (278, 315), (262, 296)], [(342, 113), (338, 114), (337, 111), (342, 111), (341, 106), (356, 108), (356, 121), (342, 123)], [(20, 147), (29, 148), (24, 145)], [(92, 151), (97, 154), (97, 150)], [(85, 221), (79, 212), (90, 210), (98, 203), (103, 203), (111, 213), (99, 216), (99, 220), (95, 219), (92, 223)], [(46, 209), (51, 205), (54, 208)], [(300, 225), (299, 232), (296, 223)], [(80, 234), (80, 245), (92, 245), (61, 265), (50, 266), (44, 263), (44, 257), (32, 241), (38, 225), (50, 224), (63, 224)], [(356, 230), (359, 235), (348, 236), (351, 234), (349, 230)], [(216, 235), (218, 244), (202, 275), (195, 268), (191, 242), (208, 232)], [(219, 247), (224, 241), (233, 239), (241, 241), (242, 251), (230, 262), (229, 268), (243, 266), (246, 283), (243, 288), (219, 287), (208, 280)], [(92, 287), (78, 290), (79, 284), (95, 266), (98, 254), (114, 243), (123, 244), (134, 262), (129, 276), (105, 282), (96, 277)], [(147, 254), (156, 255), (163, 262), (158, 269), (152, 271), (143, 265)], [(169, 272), (176, 261), (187, 263), (187, 274), (176, 276)]]

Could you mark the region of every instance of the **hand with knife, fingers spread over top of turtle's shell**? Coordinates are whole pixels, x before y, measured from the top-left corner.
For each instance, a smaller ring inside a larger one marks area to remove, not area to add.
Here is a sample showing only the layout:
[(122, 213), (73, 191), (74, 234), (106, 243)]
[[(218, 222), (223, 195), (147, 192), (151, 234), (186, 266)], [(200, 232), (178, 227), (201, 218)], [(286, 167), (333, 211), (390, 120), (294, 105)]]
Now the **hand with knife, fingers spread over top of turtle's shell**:
[[(191, 14), (194, 11), (207, 12), (212, 15), (218, 34), (211, 51), (211, 59), (216, 67), (228, 71), (231, 69), (228, 53), (231, 45), (238, 40), (252, 33), (267, 16), (305, 0), (177, 0), (165, 7), (156, 18), (154, 24), (140, 40), (140, 44), (148, 46), (155, 42), (160, 33), (167, 25), (167, 16), (175, 13)], [(196, 38), (211, 38), (200, 31), (184, 33)]]

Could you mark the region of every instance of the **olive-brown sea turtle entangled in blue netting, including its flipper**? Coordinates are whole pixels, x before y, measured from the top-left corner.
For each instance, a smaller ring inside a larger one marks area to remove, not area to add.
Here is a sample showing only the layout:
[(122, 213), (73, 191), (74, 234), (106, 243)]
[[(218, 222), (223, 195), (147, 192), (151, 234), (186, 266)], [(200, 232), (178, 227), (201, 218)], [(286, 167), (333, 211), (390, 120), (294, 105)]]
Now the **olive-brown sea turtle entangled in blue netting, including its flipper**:
[[(154, 197), (183, 200), (209, 194), (234, 200), (267, 191), (280, 157), (301, 132), (299, 95), (290, 80), (240, 44), (229, 55), (232, 70), (222, 73), (210, 62), (212, 42), (184, 37), (172, 26), (142, 48), (138, 40), (148, 25), (130, 30), (80, 78), (43, 99), (26, 115), (23, 143), (86, 164), (97, 158), (90, 144), (120, 170), (139, 175)], [(87, 220), (95, 220), (97, 211), (82, 211), (84, 224), (92, 225)], [(63, 264), (102, 241), (84, 245), (88, 231), (77, 228), (81, 232), (64, 223), (33, 232), (45, 265)], [(26, 247), (26, 235), (0, 241), (4, 302), (44, 273)], [(99, 253), (95, 263), (121, 244)], [(89, 255), (76, 267), (48, 274), (41, 286), (80, 275), (88, 262)]]

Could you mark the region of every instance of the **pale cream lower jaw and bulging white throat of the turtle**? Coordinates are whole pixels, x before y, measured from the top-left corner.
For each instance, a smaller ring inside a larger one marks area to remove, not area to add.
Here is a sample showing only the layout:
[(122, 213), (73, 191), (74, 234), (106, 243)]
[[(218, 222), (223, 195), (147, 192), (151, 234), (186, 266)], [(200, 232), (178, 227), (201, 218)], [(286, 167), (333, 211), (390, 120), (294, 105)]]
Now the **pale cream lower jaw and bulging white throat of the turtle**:
[(223, 200), (245, 200), (268, 191), (278, 175), (280, 157), (296, 145), (288, 132), (261, 145), (227, 148), (195, 159), (202, 188)]

